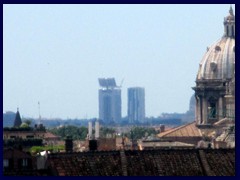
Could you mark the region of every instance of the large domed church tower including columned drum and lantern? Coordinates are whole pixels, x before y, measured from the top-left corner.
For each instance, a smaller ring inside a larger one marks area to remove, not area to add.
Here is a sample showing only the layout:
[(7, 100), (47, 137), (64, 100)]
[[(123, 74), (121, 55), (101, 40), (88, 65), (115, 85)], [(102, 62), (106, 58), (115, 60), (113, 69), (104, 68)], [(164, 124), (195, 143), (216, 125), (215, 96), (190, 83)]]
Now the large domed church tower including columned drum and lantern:
[(232, 7), (224, 18), (224, 35), (207, 48), (193, 87), (196, 123), (211, 126), (235, 114), (235, 16)]

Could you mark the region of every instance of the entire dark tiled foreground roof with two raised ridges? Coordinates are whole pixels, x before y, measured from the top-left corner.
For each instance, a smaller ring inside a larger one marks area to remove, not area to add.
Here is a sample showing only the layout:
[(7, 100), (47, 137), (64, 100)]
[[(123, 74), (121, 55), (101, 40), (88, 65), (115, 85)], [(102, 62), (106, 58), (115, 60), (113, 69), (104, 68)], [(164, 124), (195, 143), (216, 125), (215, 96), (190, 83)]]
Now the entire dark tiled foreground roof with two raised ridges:
[(49, 155), (48, 167), (59, 176), (232, 176), (235, 149), (57, 153)]

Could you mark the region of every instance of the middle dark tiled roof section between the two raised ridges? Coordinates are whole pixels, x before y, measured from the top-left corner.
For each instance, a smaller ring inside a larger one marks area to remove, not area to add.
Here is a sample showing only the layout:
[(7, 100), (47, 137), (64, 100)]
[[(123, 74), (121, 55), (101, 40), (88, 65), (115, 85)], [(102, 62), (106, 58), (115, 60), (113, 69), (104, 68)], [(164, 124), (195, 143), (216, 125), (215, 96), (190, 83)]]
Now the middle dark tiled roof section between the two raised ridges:
[(197, 150), (126, 151), (132, 176), (203, 176)]

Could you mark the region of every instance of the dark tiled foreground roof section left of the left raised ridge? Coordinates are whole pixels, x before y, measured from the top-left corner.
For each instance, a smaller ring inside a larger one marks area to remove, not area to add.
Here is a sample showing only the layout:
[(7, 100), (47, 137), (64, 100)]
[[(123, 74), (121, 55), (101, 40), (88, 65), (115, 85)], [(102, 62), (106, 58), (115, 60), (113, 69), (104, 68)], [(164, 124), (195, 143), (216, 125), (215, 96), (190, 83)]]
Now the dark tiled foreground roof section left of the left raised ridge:
[(121, 176), (119, 151), (50, 154), (49, 167), (60, 176)]

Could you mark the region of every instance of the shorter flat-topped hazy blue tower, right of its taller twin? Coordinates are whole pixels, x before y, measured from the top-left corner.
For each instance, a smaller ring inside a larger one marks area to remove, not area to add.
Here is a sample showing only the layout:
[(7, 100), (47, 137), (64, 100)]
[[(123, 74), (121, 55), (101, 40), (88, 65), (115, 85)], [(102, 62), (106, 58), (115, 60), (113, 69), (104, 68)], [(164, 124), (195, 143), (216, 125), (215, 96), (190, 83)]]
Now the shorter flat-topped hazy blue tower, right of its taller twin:
[(129, 123), (145, 120), (145, 90), (144, 88), (128, 88), (128, 120)]

